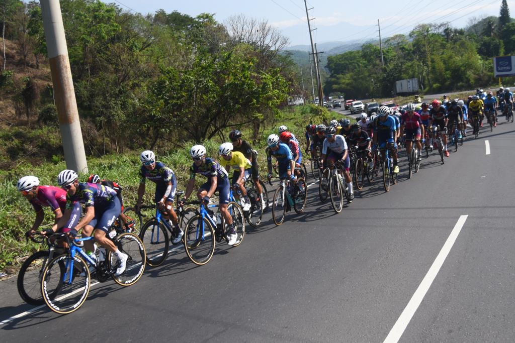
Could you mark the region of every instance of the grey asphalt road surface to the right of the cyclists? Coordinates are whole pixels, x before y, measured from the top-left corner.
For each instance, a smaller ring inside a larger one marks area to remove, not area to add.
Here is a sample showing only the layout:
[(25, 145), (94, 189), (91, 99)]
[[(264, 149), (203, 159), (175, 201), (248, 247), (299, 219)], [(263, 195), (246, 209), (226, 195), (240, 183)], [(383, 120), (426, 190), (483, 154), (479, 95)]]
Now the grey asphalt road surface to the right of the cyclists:
[(200, 267), (177, 250), (133, 286), (95, 285), (70, 315), (23, 304), (4, 281), (1, 340), (512, 342), (515, 124), (504, 120), (411, 179), (403, 152), (397, 185), (385, 193), (376, 179), (339, 214), (314, 184), (280, 227), (267, 213)]

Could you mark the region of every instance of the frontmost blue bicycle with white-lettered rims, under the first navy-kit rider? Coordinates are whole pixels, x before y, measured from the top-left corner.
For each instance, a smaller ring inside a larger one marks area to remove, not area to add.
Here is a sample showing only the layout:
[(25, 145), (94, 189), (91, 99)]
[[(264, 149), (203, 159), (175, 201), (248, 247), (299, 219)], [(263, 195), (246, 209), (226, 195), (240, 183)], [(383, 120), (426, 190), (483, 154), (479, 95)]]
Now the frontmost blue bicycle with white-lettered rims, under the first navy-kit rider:
[[(113, 231), (114, 234), (112, 234)], [(145, 247), (135, 234), (128, 232), (118, 234), (118, 230), (113, 231), (106, 237), (119, 251), (128, 256), (126, 269), (119, 276), (115, 275), (115, 257), (111, 251), (104, 253), (103, 247), (98, 248), (99, 256), (97, 261), (94, 261), (80, 248), (80, 242), (93, 240), (93, 237), (71, 240), (65, 233), (53, 235), (64, 238), (70, 248), (65, 254), (50, 261), (43, 270), (41, 293), (50, 310), (59, 314), (68, 314), (79, 309), (88, 297), (92, 275), (99, 282), (112, 278), (121, 286), (130, 286), (138, 282), (145, 270)]]

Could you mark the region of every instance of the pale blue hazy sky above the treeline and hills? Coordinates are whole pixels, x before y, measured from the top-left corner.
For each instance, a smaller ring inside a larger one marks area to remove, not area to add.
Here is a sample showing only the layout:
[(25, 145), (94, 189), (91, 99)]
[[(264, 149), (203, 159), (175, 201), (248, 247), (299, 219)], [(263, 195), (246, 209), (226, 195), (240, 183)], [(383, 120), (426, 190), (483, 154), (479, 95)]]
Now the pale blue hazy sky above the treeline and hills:
[[(142, 14), (158, 9), (177, 10), (191, 16), (202, 12), (214, 13), (218, 22), (231, 15), (244, 14), (266, 20), (289, 38), (290, 46), (310, 43), (303, 0), (102, 0), (115, 3), (125, 10)], [(308, 8), (313, 39), (316, 43), (377, 39), (377, 20), (382, 38), (409, 33), (422, 23), (450, 22), (454, 27), (465, 27), (472, 17), (499, 15), (501, 0), (310, 0)], [(508, 1), (515, 10), (515, 0)], [(513, 16), (513, 15), (512, 15)]]

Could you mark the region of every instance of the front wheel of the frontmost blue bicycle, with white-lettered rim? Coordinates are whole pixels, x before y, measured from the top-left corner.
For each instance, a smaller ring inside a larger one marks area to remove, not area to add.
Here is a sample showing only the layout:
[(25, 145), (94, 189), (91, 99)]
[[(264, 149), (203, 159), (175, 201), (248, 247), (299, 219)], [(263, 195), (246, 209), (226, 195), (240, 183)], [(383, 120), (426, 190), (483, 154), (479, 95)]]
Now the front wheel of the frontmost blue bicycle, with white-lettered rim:
[[(68, 314), (84, 303), (90, 292), (91, 276), (88, 265), (75, 255), (60, 255), (43, 270), (41, 293), (50, 310)], [(56, 294), (55, 290), (59, 290)]]

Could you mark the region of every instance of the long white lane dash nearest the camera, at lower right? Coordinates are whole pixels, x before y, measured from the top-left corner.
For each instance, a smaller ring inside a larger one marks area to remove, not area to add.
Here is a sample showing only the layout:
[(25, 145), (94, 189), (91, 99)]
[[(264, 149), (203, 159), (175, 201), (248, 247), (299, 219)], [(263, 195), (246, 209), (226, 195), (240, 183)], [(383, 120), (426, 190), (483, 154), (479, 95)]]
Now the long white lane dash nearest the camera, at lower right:
[(449, 251), (451, 251), (454, 242), (456, 242), (456, 238), (458, 238), (458, 234), (461, 231), (463, 225), (465, 224), (467, 217), (468, 215), (460, 215), (458, 222), (456, 223), (456, 225), (454, 225), (454, 228), (452, 229), (449, 238), (447, 239), (447, 241), (445, 241), (445, 244), (443, 244), (443, 247), (440, 250), (435, 261), (433, 262), (433, 265), (431, 265), (431, 268), (429, 268), (424, 279), (418, 286), (417, 291), (415, 291), (413, 297), (411, 297), (408, 304), (406, 305), (406, 308), (404, 308), (404, 311), (402, 311), (401, 316), (399, 317), (399, 319), (397, 319), (393, 328), (391, 328), (390, 333), (384, 340), (385, 343), (397, 343), (401, 338), (402, 334), (404, 333), (404, 330), (406, 330), (406, 327), (408, 326), (409, 321), (411, 320), (411, 318), (413, 318), (413, 315), (417, 311), (420, 303), (422, 302), (422, 299), (424, 299), (427, 290), (429, 290), (429, 287), (435, 280), (435, 277), (438, 274), (440, 268), (442, 267), (445, 258), (447, 258), (447, 255), (449, 255)]

